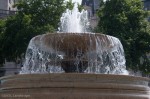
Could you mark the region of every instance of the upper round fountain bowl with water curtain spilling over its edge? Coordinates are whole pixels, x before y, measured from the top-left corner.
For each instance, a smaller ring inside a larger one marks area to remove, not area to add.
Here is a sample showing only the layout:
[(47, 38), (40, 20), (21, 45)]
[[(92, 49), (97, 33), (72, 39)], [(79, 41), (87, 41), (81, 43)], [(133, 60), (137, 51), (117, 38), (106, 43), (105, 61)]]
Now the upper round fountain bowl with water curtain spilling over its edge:
[(100, 33), (48, 33), (31, 39), (21, 73), (125, 73), (119, 39)]

